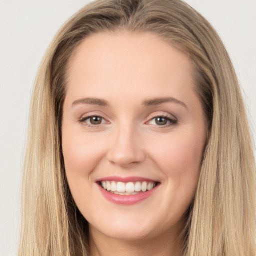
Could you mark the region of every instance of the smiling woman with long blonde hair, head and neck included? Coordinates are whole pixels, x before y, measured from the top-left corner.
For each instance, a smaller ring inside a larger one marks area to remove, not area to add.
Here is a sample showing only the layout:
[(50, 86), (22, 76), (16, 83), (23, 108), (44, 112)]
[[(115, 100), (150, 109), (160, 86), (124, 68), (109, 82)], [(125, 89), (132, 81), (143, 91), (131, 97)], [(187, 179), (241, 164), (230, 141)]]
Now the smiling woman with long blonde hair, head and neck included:
[(179, 0), (101, 0), (40, 67), (20, 255), (254, 255), (255, 166), (218, 35)]

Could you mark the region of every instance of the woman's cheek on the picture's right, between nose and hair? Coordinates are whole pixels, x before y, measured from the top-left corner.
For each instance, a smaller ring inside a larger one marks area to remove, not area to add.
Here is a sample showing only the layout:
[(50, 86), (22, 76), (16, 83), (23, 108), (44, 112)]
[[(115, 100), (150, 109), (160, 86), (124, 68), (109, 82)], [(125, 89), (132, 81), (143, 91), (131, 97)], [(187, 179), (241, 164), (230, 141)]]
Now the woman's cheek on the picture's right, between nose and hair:
[(204, 151), (204, 137), (196, 132), (173, 132), (149, 145), (150, 154), (165, 176), (168, 193), (191, 200), (198, 182)]

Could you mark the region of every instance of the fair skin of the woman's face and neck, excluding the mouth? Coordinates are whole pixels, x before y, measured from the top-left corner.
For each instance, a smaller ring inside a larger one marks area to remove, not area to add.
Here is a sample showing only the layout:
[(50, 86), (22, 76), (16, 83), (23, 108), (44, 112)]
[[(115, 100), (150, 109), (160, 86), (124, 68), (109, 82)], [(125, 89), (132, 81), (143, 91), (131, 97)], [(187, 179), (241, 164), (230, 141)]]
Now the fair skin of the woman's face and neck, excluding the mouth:
[[(175, 100), (148, 104), (166, 97)], [(93, 124), (89, 116), (102, 122)], [(156, 116), (174, 121), (159, 125)], [(151, 33), (87, 37), (69, 61), (62, 145), (72, 196), (89, 222), (91, 255), (180, 255), (183, 216), (205, 142), (186, 54)], [(145, 200), (120, 205), (99, 191), (96, 180), (105, 176), (139, 176), (160, 185)]]

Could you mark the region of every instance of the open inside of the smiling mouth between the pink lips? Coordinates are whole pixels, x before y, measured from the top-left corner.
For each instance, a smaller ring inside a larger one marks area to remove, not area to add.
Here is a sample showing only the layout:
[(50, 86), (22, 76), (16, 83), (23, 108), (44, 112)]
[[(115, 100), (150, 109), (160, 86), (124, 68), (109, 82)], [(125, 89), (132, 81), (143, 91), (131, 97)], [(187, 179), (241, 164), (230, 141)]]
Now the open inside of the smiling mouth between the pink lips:
[(114, 180), (99, 181), (98, 184), (108, 192), (118, 195), (134, 195), (144, 193), (155, 188), (159, 182), (154, 181), (136, 181), (121, 182)]

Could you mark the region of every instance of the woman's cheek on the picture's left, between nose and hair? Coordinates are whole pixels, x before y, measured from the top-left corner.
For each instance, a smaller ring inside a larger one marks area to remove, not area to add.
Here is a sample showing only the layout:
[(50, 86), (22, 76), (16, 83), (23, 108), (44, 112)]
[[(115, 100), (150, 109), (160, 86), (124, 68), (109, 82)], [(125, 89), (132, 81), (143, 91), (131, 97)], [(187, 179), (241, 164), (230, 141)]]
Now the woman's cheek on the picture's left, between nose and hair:
[(85, 206), (94, 200), (91, 194), (91, 173), (103, 155), (102, 147), (97, 142), (93, 136), (63, 129), (62, 148), (66, 178), (73, 199), (83, 216), (90, 214)]

